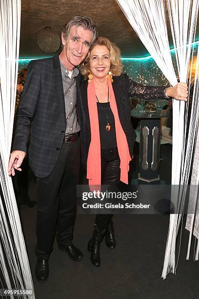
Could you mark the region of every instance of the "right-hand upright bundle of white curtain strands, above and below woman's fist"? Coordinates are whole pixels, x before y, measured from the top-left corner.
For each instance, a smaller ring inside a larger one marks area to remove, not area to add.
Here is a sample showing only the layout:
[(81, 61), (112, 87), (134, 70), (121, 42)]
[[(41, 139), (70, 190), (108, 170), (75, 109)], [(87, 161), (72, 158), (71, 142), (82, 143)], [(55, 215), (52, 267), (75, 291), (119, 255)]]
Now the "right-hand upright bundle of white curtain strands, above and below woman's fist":
[[(181, 80), (185, 80), (187, 77), (188, 64), (190, 60), (190, 51), (191, 51), (191, 43), (192, 39), (195, 36), (196, 32), (196, 20), (198, 16), (199, 9), (199, 1), (189, 1), (189, 10), (187, 11), (187, 3), (183, 3), (184, 1), (170, 1), (168, 0), (168, 11), (170, 24), (172, 29), (172, 35), (175, 46), (177, 46), (176, 58), (178, 62), (178, 70), (179, 77)], [(172, 13), (171, 7), (172, 5)], [(178, 5), (177, 5), (178, 4)], [(185, 4), (185, 5), (183, 5)], [(183, 18), (182, 18), (183, 16)], [(179, 20), (179, 21), (178, 21)], [(190, 21), (190, 26), (185, 27), (184, 24), (188, 24)], [(187, 30), (188, 28), (188, 30)], [(186, 44), (188, 44), (186, 46)], [(179, 55), (178, 55), (179, 54)], [(185, 82), (185, 81), (184, 81)], [(196, 102), (198, 101), (196, 97)], [(171, 196), (172, 201), (175, 201), (177, 204), (177, 213), (172, 214), (170, 216), (170, 226), (169, 233), (166, 245), (166, 253), (164, 259), (164, 267), (162, 271), (162, 278), (166, 278), (168, 272), (175, 273), (176, 265), (175, 265), (175, 246), (176, 246), (176, 237), (179, 230), (179, 224), (181, 221), (181, 214), (184, 205), (184, 199), (186, 194), (186, 187), (189, 178), (191, 159), (190, 155), (193, 152), (193, 143), (195, 140), (196, 134), (196, 125), (197, 125), (197, 117), (199, 112), (198, 103), (194, 105), (194, 95), (193, 95), (193, 103), (192, 109), (194, 108), (197, 111), (197, 115), (195, 115), (195, 119), (193, 119), (193, 110), (191, 113), (190, 119), (190, 128), (188, 134), (188, 142), (185, 153), (185, 136), (186, 130), (184, 130), (184, 103), (174, 101), (173, 103), (173, 115), (175, 118), (173, 119), (173, 152), (172, 159), (175, 163), (172, 163), (172, 184), (175, 184), (175, 188), (173, 189), (173, 193)], [(187, 119), (185, 120), (187, 121)], [(195, 126), (193, 130), (193, 126)], [(186, 125), (185, 125), (186, 128)], [(184, 157), (185, 155), (185, 157)], [(188, 158), (189, 155), (189, 159)], [(179, 191), (178, 191), (178, 186)]]

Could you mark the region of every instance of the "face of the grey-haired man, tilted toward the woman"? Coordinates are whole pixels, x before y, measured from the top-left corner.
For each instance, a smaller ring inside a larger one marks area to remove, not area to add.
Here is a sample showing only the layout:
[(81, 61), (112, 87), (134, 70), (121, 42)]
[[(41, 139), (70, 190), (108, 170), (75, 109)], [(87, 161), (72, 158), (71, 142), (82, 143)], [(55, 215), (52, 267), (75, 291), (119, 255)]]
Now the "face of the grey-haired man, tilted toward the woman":
[(69, 70), (72, 70), (84, 60), (88, 54), (92, 39), (92, 31), (85, 30), (81, 26), (76, 28), (75, 25), (71, 27), (66, 41), (61, 36), (64, 46), (61, 56), (62, 60), (64, 60), (63, 63)]

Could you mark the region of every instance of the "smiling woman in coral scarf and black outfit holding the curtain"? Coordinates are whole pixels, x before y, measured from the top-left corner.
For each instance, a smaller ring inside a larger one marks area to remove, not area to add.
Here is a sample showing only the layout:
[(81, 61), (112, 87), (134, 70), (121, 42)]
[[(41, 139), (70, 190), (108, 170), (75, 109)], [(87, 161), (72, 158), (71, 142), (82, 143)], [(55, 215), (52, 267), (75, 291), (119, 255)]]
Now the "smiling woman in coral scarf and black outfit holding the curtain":
[[(136, 138), (131, 126), (129, 96), (145, 99), (173, 97), (186, 100), (187, 85), (179, 83), (165, 88), (139, 85), (121, 74), (119, 48), (99, 37), (81, 65), (89, 80), (81, 86), (85, 115), (81, 115), (82, 161), (89, 185), (128, 184), (129, 162), (133, 158)], [(83, 121), (84, 120), (84, 121)], [(109, 248), (116, 246), (112, 215), (97, 214), (93, 237), (88, 243), (91, 261), (100, 267), (100, 242), (105, 235)]]

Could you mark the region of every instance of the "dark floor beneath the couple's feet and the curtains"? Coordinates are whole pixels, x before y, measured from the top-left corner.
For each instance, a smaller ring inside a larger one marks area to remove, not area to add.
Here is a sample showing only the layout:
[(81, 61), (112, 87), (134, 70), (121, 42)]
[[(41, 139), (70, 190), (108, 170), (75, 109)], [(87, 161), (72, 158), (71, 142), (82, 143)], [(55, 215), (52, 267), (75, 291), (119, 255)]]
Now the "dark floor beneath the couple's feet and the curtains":
[[(170, 183), (171, 146), (162, 145), (160, 179)], [(135, 151), (139, 150), (139, 145)], [(139, 160), (135, 156), (131, 165), (132, 179), (138, 177)], [(82, 174), (83, 176), (83, 174)], [(31, 176), (29, 195), (35, 199), (35, 181)], [(161, 278), (165, 246), (168, 233), (169, 215), (114, 215), (117, 246), (106, 247), (103, 241), (100, 248), (101, 267), (90, 262), (87, 242), (91, 237), (94, 215), (77, 215), (74, 231), (74, 244), (81, 249), (84, 259), (75, 262), (58, 249), (50, 257), (50, 275), (45, 283), (35, 278), (36, 243), (35, 223), (37, 207), (21, 207), (20, 217), (27, 246), (36, 299), (195, 299), (199, 297), (199, 265), (193, 260), (193, 247), (190, 260), (186, 260), (189, 234), (182, 230), (179, 262), (176, 274)], [(179, 246), (178, 238), (178, 246)], [(194, 245), (194, 244), (193, 244)], [(177, 246), (177, 254), (178, 254)]]

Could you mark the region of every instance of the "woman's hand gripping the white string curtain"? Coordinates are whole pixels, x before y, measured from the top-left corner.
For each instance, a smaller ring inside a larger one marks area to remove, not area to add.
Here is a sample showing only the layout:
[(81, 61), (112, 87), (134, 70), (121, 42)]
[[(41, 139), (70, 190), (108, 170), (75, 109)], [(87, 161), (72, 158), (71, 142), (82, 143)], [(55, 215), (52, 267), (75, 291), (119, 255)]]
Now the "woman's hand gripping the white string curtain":
[(173, 99), (187, 101), (187, 84), (179, 82), (177, 85), (173, 87), (166, 88), (165, 93), (167, 96), (172, 97)]

